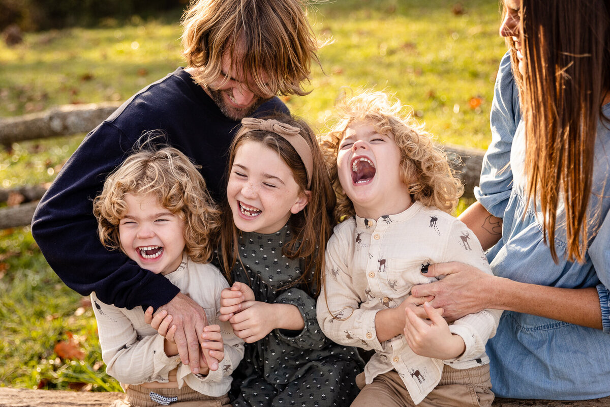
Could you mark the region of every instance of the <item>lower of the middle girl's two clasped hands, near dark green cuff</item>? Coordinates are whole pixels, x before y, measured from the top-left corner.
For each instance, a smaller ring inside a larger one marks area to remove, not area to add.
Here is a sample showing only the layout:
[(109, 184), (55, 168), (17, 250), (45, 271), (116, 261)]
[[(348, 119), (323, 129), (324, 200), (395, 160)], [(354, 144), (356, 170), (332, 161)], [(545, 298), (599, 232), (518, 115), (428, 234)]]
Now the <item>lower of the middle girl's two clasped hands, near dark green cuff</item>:
[(245, 301), (243, 310), (229, 319), (235, 335), (252, 344), (277, 327), (274, 305), (262, 301)]

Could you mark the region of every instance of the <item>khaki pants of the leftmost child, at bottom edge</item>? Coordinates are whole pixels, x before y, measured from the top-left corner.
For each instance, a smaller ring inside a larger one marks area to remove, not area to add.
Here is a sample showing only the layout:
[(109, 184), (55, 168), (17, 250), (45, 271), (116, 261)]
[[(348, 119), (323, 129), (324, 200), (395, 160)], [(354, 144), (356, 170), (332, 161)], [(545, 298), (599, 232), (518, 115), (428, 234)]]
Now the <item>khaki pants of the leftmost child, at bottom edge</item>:
[[(229, 396), (212, 397), (201, 394), (188, 386), (182, 389), (148, 389), (132, 384), (127, 387), (125, 399), (114, 402), (111, 407), (158, 407), (162, 406), (154, 402), (150, 393), (154, 392), (162, 397), (177, 397), (178, 400), (171, 402), (171, 407), (231, 407)], [(154, 397), (154, 396), (153, 396)]]

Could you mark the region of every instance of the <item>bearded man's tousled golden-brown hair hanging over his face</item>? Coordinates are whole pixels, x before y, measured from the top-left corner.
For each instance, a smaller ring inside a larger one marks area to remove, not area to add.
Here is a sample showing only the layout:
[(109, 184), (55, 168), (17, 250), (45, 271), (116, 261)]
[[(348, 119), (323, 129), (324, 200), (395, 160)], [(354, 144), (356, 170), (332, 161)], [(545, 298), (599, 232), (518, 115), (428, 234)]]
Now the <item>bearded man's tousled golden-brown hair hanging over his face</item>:
[[(224, 54), (249, 88), (266, 95), (306, 95), (318, 41), (300, 0), (198, 0), (182, 17), (182, 54), (201, 68), (198, 84), (221, 77)], [(235, 72), (225, 72), (228, 81)], [(253, 82), (253, 83), (250, 83)]]

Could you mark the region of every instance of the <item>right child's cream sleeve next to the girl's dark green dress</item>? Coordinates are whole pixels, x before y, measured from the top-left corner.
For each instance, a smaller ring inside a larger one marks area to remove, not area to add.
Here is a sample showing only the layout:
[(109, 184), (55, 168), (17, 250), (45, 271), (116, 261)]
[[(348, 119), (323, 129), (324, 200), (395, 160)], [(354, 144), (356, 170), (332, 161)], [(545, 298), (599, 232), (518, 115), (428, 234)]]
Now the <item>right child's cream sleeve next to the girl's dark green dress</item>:
[(378, 310), (360, 307), (365, 300), (354, 287), (348, 264), (349, 250), (337, 232), (342, 229), (340, 226), (335, 228), (326, 247), (325, 280), (318, 297), (318, 322), (326, 336), (337, 344), (381, 351), (384, 347), (379, 343), (375, 329)]

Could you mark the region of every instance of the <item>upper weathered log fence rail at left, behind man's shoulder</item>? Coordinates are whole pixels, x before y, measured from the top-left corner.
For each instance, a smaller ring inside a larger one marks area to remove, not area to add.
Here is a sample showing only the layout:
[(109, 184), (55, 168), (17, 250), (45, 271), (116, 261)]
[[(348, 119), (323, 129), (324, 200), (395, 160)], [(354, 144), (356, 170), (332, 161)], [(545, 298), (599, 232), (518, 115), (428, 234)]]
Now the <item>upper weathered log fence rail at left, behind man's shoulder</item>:
[(44, 112), (0, 118), (0, 144), (87, 133), (120, 103), (67, 104)]

